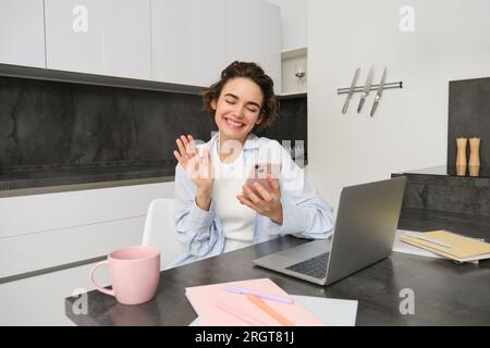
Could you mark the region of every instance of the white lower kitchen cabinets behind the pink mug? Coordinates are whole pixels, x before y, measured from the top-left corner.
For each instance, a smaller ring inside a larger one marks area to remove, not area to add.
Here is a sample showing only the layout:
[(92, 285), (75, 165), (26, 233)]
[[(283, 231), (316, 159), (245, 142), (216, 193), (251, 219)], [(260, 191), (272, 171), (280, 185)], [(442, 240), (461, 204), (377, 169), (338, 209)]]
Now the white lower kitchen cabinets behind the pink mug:
[[(0, 278), (139, 245), (148, 206), (173, 182), (0, 199)], [(172, 235), (174, 226), (167, 233)]]

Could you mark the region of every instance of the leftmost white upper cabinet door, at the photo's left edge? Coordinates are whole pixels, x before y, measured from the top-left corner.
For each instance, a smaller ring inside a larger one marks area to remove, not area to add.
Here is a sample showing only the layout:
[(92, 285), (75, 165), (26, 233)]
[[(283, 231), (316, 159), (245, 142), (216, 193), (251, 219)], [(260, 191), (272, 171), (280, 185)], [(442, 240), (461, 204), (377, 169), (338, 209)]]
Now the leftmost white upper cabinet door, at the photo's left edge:
[(46, 66), (42, 0), (0, 1), (0, 63)]

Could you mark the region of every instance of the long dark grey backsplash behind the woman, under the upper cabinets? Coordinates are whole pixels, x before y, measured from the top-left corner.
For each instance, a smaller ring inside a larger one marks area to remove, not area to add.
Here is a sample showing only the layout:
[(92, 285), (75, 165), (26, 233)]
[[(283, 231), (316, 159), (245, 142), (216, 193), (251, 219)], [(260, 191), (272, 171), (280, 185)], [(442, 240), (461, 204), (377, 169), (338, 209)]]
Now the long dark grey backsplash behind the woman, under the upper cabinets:
[[(3, 172), (168, 162), (179, 135), (215, 129), (196, 95), (0, 76)], [(305, 96), (282, 100), (262, 135), (306, 147), (306, 129)]]

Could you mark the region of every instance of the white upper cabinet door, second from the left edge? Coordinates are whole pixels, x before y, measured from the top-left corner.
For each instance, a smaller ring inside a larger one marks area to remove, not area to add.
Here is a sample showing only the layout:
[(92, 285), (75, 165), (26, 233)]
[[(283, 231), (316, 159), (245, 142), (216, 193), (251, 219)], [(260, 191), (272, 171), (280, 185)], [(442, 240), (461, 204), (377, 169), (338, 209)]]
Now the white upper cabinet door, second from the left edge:
[(149, 0), (45, 0), (47, 67), (151, 78)]

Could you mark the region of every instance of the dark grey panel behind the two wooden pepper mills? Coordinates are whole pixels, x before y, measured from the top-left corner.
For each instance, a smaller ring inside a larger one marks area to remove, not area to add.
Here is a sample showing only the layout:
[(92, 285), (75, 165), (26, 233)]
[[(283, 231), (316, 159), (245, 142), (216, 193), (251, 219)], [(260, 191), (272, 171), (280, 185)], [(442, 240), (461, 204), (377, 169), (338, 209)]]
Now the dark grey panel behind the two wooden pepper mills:
[(480, 176), (490, 177), (490, 77), (452, 80), (449, 90), (448, 173), (456, 175), (456, 138), (477, 137)]

